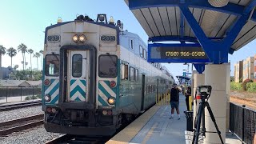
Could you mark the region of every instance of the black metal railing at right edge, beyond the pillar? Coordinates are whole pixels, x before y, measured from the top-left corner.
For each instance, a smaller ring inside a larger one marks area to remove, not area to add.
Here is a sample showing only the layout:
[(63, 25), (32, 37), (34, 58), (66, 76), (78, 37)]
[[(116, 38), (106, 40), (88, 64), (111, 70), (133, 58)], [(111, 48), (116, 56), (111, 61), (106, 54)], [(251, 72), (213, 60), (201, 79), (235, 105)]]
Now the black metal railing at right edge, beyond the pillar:
[(256, 111), (230, 102), (230, 131), (243, 143), (252, 144), (256, 128)]

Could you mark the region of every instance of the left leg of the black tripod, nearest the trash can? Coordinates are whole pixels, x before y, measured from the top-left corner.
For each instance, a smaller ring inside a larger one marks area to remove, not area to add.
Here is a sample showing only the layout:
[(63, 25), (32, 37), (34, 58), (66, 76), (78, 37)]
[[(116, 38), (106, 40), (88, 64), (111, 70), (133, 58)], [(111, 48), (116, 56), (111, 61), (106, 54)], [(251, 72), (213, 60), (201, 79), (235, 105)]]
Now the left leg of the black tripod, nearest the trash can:
[(200, 125), (201, 125), (201, 120), (202, 120), (202, 110), (204, 109), (204, 107), (202, 106), (202, 102), (200, 102), (199, 104), (199, 108), (198, 108), (198, 122), (197, 122), (197, 128), (196, 130), (194, 130), (194, 136), (193, 136), (193, 140), (192, 140), (192, 144), (198, 144), (198, 138), (199, 138), (199, 134), (200, 134)]

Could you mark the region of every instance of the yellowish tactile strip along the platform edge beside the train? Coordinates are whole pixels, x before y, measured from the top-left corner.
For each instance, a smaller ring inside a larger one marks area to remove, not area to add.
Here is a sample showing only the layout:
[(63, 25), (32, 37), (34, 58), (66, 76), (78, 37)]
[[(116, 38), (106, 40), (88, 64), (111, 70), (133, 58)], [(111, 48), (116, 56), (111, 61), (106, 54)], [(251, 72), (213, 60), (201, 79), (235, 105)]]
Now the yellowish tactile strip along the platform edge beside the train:
[(106, 144), (126, 144), (129, 143), (140, 130), (150, 121), (150, 118), (159, 110), (161, 106), (153, 106), (146, 113), (142, 114), (139, 118), (134, 120), (129, 126), (116, 134)]

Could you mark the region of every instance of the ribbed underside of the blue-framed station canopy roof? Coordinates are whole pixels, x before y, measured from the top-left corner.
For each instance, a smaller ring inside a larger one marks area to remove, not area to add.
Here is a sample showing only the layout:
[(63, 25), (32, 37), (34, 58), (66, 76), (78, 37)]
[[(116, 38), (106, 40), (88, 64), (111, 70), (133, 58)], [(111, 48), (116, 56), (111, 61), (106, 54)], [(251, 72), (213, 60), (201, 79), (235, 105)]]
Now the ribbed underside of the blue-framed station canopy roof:
[[(182, 17), (178, 7), (181, 0), (125, 0), (125, 2), (152, 42), (180, 41), (181, 38), (186, 42), (197, 40), (186, 18)], [(226, 37), (236, 18), (243, 13), (250, 2), (250, 0), (230, 0), (226, 6), (219, 8), (211, 6), (207, 0), (190, 0), (186, 3), (206, 36), (218, 40)], [(254, 38), (256, 38), (256, 11), (252, 10), (250, 18), (234, 40), (231, 49), (238, 50)]]

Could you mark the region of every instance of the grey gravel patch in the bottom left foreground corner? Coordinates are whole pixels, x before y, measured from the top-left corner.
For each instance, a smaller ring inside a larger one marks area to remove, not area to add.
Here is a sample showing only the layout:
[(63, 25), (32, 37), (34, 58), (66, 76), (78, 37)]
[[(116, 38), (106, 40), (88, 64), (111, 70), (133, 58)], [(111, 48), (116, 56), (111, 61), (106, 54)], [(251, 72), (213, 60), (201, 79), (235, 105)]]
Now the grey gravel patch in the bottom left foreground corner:
[(32, 129), (23, 130), (22, 132), (9, 134), (7, 137), (0, 137), (0, 143), (5, 143), (5, 144), (45, 143), (61, 135), (63, 134), (46, 132), (43, 126), (37, 126)]

